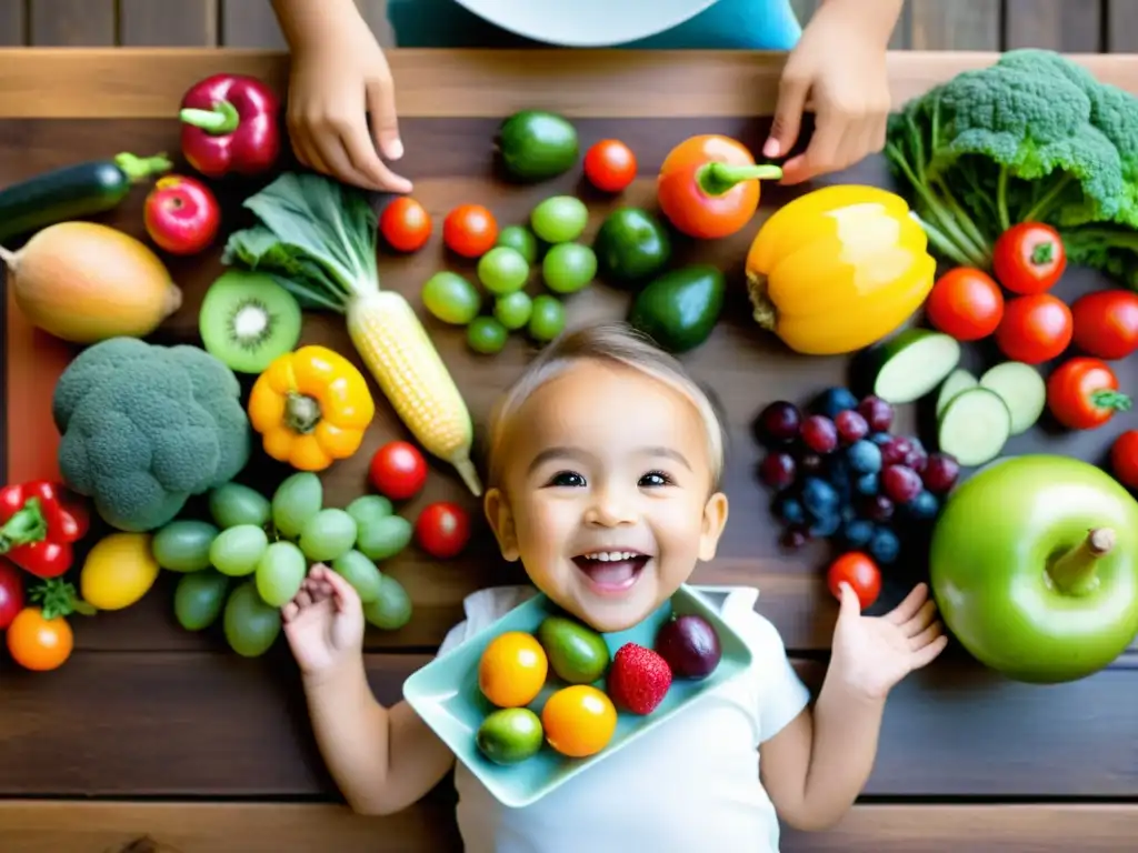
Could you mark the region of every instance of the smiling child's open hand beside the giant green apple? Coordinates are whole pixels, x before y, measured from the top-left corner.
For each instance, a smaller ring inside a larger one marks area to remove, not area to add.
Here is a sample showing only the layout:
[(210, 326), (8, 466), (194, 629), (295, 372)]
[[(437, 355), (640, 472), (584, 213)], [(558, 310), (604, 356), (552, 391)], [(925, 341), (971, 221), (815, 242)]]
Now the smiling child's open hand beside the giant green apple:
[(830, 664), (834, 677), (867, 698), (884, 698), (905, 676), (945, 651), (948, 637), (935, 615), (924, 583), (889, 613), (864, 616), (857, 593), (843, 582)]

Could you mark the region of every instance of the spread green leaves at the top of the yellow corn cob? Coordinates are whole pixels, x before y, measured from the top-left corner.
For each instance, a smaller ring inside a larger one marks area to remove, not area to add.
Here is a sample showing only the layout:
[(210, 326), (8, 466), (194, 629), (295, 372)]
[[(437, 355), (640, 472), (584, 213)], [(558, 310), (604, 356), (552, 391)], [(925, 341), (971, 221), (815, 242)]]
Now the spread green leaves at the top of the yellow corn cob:
[(236, 231), (222, 263), (272, 275), (304, 307), (345, 313), (379, 289), (378, 220), (362, 190), (286, 172), (245, 200), (259, 221)]

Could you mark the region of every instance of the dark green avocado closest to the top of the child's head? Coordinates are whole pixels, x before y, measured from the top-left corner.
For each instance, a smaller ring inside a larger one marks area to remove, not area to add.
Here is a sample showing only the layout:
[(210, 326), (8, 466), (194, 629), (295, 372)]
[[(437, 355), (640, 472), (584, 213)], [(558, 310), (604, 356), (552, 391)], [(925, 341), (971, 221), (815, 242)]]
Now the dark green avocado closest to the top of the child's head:
[(670, 353), (686, 353), (708, 339), (723, 313), (727, 282), (707, 264), (671, 270), (633, 299), (628, 322)]

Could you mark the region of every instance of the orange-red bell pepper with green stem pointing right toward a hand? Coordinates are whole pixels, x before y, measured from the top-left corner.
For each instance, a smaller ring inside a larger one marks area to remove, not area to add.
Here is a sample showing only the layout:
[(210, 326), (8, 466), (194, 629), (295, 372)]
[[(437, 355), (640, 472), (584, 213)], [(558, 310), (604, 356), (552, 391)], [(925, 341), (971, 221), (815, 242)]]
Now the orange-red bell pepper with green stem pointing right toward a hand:
[(778, 166), (756, 165), (736, 140), (703, 134), (684, 140), (665, 158), (657, 198), (678, 231), (712, 240), (747, 225), (759, 207), (759, 181), (780, 177)]

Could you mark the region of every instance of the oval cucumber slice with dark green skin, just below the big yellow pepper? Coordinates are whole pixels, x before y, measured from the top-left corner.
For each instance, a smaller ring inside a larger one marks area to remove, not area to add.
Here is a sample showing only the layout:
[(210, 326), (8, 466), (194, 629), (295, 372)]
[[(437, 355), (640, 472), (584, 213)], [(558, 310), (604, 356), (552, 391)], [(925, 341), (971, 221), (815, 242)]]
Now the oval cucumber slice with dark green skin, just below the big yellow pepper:
[(872, 354), (876, 367), (873, 392), (892, 405), (913, 403), (945, 381), (960, 363), (960, 345), (930, 329), (906, 329), (879, 343)]

